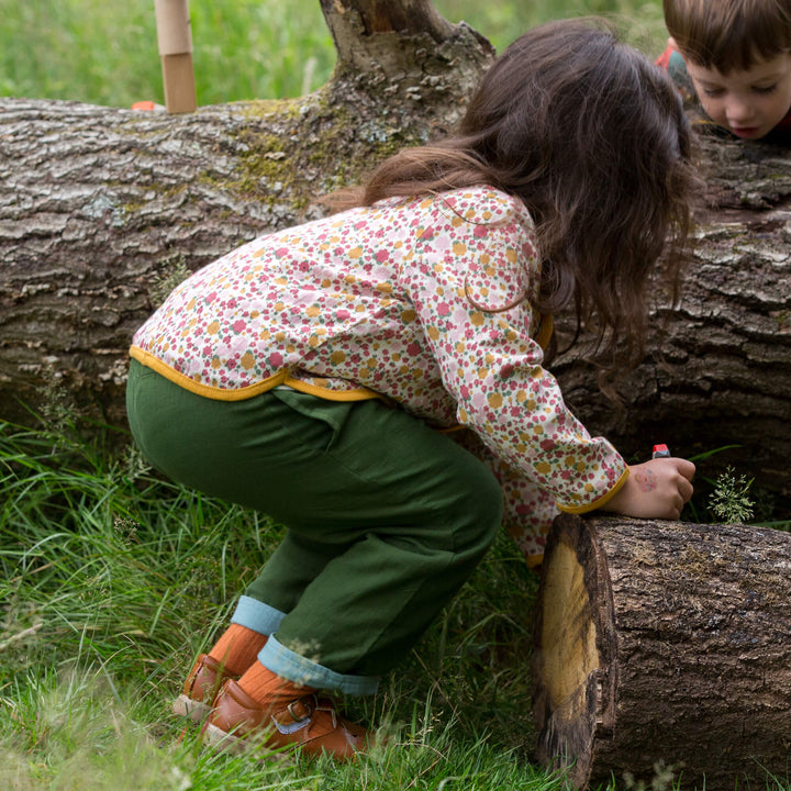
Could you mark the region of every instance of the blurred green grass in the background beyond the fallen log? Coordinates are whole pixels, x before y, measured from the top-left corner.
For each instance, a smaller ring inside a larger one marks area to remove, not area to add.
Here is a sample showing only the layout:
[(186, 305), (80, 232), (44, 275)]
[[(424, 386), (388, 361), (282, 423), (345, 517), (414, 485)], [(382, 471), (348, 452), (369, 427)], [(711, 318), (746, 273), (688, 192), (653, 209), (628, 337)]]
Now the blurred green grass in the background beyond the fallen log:
[[(666, 38), (660, 0), (437, 0), (500, 49), (530, 26), (582, 13), (619, 14), (651, 55)], [(296, 97), (319, 88), (335, 62), (319, 0), (190, 3), (199, 104)], [(130, 107), (161, 103), (152, 0), (0, 0), (0, 96)]]

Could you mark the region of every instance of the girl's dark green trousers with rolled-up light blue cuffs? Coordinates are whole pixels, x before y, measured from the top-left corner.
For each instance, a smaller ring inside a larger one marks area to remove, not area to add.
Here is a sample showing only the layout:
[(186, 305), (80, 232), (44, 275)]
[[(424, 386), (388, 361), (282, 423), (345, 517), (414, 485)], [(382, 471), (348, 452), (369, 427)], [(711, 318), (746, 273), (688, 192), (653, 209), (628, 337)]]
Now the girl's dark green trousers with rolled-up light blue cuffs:
[(219, 401), (132, 360), (126, 403), (154, 467), (287, 527), (234, 622), (271, 635), (260, 661), (311, 687), (375, 691), (500, 526), (490, 469), (378, 399)]

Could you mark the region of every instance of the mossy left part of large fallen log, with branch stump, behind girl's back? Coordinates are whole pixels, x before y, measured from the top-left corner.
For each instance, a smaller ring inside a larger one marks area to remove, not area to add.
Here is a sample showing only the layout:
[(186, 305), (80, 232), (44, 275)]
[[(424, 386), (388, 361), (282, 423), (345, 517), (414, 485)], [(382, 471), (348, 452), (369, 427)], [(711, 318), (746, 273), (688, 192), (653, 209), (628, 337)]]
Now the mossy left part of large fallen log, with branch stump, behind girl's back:
[(0, 421), (62, 406), (125, 428), (130, 341), (163, 297), (448, 132), (494, 54), (430, 0), (322, 10), (336, 67), (298, 99), (166, 114), (0, 97)]

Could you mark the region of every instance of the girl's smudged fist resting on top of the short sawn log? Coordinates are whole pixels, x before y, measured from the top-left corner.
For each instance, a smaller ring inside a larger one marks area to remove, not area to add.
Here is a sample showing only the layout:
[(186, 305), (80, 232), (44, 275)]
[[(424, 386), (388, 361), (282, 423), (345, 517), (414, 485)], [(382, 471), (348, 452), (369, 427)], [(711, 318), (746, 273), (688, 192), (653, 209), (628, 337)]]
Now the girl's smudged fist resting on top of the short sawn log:
[(630, 467), (630, 477), (602, 511), (640, 519), (671, 519), (692, 497), (694, 465), (681, 458), (657, 458)]

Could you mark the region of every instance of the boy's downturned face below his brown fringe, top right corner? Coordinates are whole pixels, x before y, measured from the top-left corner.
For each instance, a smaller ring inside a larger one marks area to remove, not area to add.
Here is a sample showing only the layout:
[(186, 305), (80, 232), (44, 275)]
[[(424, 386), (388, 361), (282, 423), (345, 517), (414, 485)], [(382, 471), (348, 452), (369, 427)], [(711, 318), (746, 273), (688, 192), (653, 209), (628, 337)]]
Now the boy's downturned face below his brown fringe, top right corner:
[(727, 75), (688, 60), (687, 71), (709, 118), (739, 137), (764, 137), (791, 108), (791, 53)]

